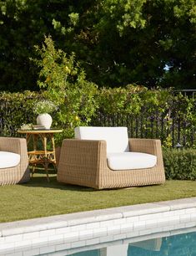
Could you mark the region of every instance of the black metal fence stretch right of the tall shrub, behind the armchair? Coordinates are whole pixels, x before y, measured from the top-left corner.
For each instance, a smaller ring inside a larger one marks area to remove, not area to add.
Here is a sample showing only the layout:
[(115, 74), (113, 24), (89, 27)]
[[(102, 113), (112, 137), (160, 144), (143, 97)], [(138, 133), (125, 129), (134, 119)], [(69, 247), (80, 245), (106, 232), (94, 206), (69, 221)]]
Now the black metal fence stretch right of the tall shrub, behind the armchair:
[[(173, 91), (173, 96), (179, 94), (195, 99), (196, 104), (196, 90)], [(196, 105), (194, 106), (196, 112)], [(174, 147), (179, 143), (182, 146), (195, 147), (195, 120), (188, 120), (186, 113), (182, 113), (182, 108), (179, 98), (163, 113), (157, 110), (149, 113), (148, 108), (145, 107), (143, 107), (139, 115), (108, 115), (107, 113), (99, 112), (92, 125), (127, 126), (128, 136), (132, 138), (158, 138), (165, 146)]]

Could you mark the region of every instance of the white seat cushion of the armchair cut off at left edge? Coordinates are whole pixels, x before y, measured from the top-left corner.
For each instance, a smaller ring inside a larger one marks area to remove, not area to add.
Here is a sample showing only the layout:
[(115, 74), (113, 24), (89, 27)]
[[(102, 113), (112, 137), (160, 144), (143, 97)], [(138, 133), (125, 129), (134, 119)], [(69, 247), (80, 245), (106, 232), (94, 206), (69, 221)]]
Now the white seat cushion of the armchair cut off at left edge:
[(20, 155), (7, 151), (0, 151), (0, 169), (18, 166)]

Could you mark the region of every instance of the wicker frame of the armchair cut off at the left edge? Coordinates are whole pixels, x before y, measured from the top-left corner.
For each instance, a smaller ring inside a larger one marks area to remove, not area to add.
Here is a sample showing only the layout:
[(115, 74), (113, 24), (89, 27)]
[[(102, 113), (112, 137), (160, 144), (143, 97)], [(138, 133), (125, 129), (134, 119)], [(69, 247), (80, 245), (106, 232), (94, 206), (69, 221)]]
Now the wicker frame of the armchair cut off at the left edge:
[(30, 172), (28, 169), (27, 142), (22, 138), (0, 137), (0, 151), (8, 151), (20, 155), (17, 166), (0, 168), (0, 185), (10, 185), (28, 182)]

